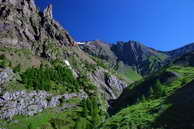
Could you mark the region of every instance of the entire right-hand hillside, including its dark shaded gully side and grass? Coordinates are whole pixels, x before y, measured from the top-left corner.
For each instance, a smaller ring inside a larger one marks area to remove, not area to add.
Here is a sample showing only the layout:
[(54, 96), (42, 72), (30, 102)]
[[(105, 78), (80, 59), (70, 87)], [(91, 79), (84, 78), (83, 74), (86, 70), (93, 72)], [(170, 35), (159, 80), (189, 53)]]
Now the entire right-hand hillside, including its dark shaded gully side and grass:
[[(111, 101), (102, 129), (193, 129), (193, 53), (132, 84)], [(180, 63), (181, 62), (181, 63)]]

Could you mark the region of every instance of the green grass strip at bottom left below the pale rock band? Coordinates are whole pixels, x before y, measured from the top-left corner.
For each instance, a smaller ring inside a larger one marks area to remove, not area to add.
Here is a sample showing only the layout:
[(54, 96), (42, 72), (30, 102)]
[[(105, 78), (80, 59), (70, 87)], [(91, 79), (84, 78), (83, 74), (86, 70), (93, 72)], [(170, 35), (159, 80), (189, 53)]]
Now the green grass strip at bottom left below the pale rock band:
[[(80, 108), (66, 110), (65, 112), (58, 112), (54, 109), (47, 109), (35, 116), (16, 116), (12, 122), (4, 121), (5, 128), (8, 129), (43, 129), (43, 127), (50, 127), (52, 119), (64, 120), (64, 129), (70, 129), (74, 126), (75, 122), (72, 119), (77, 119), (78, 115), (76, 112), (80, 111)], [(15, 121), (15, 122), (13, 122)], [(3, 123), (3, 122), (0, 122)], [(2, 124), (3, 125), (3, 124)]]

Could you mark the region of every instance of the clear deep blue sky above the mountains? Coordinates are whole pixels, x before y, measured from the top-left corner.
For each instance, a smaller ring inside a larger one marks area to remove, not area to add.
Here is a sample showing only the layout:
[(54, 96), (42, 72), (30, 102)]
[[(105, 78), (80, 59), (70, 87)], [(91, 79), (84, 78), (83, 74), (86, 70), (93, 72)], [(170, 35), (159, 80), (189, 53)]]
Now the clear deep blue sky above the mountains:
[(194, 42), (194, 0), (36, 0), (77, 41), (137, 40), (171, 50)]

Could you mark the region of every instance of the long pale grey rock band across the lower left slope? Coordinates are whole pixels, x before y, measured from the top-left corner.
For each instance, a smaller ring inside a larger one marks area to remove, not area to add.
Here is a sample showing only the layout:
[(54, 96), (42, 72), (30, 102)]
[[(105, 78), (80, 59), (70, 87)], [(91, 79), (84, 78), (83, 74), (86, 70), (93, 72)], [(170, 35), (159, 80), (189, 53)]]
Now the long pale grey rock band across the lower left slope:
[[(12, 118), (15, 115), (34, 115), (46, 108), (56, 107), (71, 98), (85, 99), (84, 92), (53, 96), (46, 91), (6, 92), (0, 96), (0, 118)], [(64, 104), (65, 108), (70, 106)], [(63, 107), (63, 106), (62, 106)]]

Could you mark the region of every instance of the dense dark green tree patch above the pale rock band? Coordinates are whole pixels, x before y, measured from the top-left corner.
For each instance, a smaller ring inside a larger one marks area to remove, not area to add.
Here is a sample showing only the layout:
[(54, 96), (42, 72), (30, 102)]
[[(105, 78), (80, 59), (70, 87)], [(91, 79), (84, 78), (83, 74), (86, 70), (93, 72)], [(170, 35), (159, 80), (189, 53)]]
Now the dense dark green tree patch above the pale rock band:
[(65, 66), (41, 66), (29, 68), (21, 75), (26, 88), (58, 92), (78, 92), (80, 85), (72, 72)]

